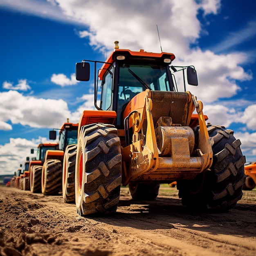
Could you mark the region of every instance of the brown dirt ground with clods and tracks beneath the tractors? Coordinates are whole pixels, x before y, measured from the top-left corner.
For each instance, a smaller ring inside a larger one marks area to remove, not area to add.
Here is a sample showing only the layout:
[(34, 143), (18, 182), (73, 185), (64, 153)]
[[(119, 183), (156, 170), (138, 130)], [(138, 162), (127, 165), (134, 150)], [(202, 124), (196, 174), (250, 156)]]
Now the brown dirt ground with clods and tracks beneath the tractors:
[(121, 189), (117, 213), (80, 217), (61, 195), (0, 186), (1, 256), (255, 256), (256, 189), (226, 213), (190, 213), (176, 189), (135, 202)]

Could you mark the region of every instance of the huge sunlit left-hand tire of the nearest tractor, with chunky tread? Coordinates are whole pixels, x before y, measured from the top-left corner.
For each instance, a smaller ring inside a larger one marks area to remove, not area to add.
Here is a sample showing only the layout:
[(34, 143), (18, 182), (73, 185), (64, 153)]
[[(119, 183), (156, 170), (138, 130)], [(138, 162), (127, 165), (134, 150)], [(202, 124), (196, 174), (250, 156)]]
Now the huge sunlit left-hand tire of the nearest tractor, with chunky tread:
[(116, 212), (121, 187), (121, 146), (108, 124), (83, 126), (76, 153), (75, 198), (79, 215)]

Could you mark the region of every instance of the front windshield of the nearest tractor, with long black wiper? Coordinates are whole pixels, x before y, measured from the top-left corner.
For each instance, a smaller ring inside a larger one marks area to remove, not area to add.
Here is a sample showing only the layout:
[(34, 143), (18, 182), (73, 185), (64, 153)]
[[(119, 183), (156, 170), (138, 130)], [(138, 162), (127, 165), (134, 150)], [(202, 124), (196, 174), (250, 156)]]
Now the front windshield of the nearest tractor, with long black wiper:
[(168, 65), (123, 64), (119, 68), (117, 124), (121, 124), (121, 112), (139, 92), (146, 89), (171, 91)]

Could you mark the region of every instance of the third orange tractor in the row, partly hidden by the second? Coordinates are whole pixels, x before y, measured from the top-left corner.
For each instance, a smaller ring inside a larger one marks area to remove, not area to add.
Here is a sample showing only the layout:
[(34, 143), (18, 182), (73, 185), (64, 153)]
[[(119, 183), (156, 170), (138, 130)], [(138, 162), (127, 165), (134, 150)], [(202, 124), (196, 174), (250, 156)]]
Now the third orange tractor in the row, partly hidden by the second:
[[(45, 162), (47, 150), (58, 150), (57, 143), (40, 143), (37, 147), (36, 160), (29, 162), (29, 184), (32, 193), (40, 193), (42, 169)], [(34, 148), (31, 148), (31, 154), (34, 154)]]

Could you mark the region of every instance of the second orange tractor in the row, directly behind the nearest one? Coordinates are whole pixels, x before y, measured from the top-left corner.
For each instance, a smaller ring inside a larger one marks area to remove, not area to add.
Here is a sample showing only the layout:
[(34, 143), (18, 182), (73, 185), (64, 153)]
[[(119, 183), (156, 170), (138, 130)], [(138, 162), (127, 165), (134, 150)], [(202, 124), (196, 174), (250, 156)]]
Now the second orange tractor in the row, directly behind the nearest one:
[[(74, 175), (78, 124), (63, 123), (59, 131), (59, 150), (48, 150), (43, 172), (42, 193), (52, 195), (61, 190), (64, 202), (74, 202)], [(56, 139), (56, 130), (49, 132), (49, 139)], [(62, 182), (61, 182), (62, 180)]]

